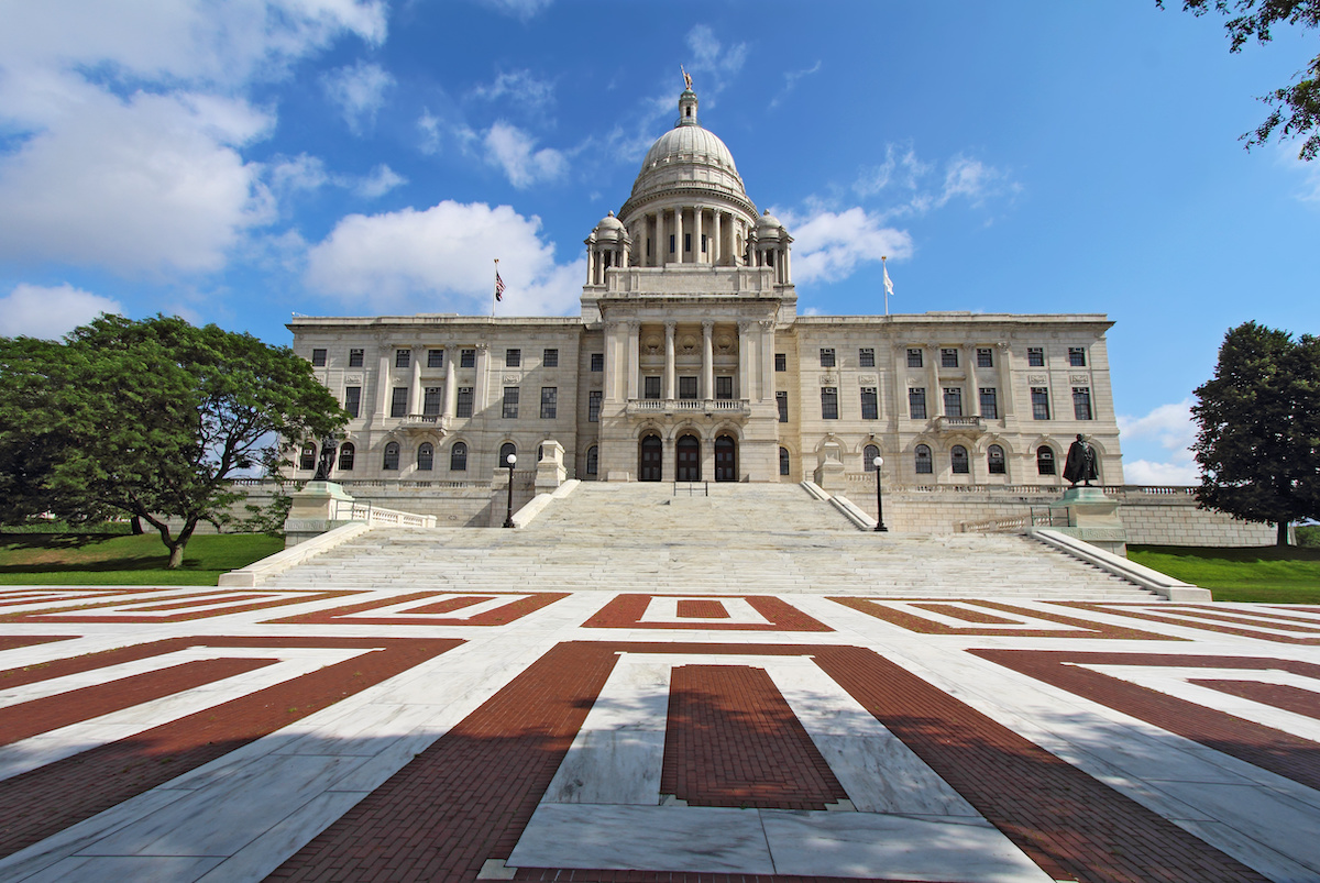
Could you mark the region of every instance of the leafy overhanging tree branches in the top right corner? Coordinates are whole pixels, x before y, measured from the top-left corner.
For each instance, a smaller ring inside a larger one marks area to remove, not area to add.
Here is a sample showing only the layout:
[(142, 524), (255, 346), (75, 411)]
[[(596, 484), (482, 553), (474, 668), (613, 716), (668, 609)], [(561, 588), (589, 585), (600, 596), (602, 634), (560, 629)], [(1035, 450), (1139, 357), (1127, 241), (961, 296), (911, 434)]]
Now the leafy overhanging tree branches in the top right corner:
[[(1164, 3), (1155, 0), (1155, 5), (1163, 8)], [(1270, 42), (1270, 33), (1279, 24), (1320, 26), (1320, 0), (1183, 0), (1183, 9), (1196, 16), (1212, 9), (1233, 16), (1224, 22), (1224, 29), (1232, 38), (1229, 51), (1234, 53), (1242, 51), (1253, 38)], [(1270, 106), (1270, 114), (1255, 132), (1242, 136), (1247, 148), (1269, 144), (1275, 133), (1280, 140), (1304, 136), (1298, 157), (1316, 158), (1320, 153), (1320, 55), (1298, 73), (1298, 82), (1262, 95), (1261, 100)]]

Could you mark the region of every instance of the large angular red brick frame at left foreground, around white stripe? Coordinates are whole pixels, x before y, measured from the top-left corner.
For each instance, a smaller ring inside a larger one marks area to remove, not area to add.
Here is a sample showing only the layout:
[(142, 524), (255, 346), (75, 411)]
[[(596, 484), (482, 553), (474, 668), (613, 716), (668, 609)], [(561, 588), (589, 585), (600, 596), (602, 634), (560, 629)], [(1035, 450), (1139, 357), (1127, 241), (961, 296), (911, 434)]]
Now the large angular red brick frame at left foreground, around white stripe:
[[(0, 785), (0, 855), (30, 846), (84, 818), (215, 760), (447, 649), (458, 640), (206, 638), (156, 641), (20, 672), (32, 680), (141, 659), (148, 647), (352, 647), (375, 652), (327, 665), (127, 739), (46, 764)], [(376, 649), (379, 648), (379, 649)], [(150, 656), (147, 652), (145, 656)], [(30, 680), (28, 681), (30, 682)]]

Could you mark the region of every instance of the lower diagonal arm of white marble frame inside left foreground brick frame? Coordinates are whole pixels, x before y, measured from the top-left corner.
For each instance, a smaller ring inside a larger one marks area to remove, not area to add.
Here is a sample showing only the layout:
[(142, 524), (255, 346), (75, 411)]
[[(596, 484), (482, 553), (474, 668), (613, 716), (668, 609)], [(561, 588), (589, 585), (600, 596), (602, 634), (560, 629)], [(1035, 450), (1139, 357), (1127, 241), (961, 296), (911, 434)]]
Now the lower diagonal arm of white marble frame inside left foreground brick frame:
[[(284, 648), (271, 648), (267, 656), (280, 657)], [(290, 681), (310, 672), (333, 665), (368, 649), (323, 648), (319, 652), (290, 653), (280, 661), (243, 674), (211, 681), (149, 702), (141, 702), (119, 711), (49, 730), (28, 739), (0, 747), (0, 781), (30, 769), (44, 767), (75, 754), (128, 738), (144, 730), (205, 711), (249, 693)]]

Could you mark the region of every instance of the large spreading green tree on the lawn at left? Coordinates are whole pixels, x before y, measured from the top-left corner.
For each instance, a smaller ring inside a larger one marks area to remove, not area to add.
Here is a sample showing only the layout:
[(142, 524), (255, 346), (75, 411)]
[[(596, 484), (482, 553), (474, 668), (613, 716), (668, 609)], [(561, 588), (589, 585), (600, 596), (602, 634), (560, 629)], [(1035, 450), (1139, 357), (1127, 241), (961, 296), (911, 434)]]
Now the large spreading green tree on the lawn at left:
[(234, 520), (234, 478), (279, 474), (347, 418), (289, 347), (215, 325), (103, 315), (65, 344), (3, 341), (3, 515), (136, 516), (177, 568), (199, 523)]

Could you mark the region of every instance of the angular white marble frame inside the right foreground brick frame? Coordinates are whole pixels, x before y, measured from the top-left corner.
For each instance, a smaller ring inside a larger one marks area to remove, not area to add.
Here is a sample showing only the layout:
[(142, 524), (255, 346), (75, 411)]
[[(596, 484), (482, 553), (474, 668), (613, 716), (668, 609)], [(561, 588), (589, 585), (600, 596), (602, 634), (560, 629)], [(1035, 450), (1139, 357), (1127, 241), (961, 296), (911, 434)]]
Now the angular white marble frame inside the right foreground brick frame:
[[(1320, 680), (1284, 672), (1282, 669), (1250, 669), (1250, 668), (1196, 668), (1196, 667), (1155, 667), (1155, 665), (1094, 665), (1085, 664), (1101, 674), (1117, 677), (1137, 686), (1172, 696), (1193, 705), (1203, 705), (1209, 709), (1232, 714), (1261, 723), (1283, 733), (1291, 733), (1302, 739), (1320, 742), (1320, 721), (1287, 711), (1267, 702), (1247, 700), (1232, 693), (1224, 693), (1210, 686), (1191, 684), (1192, 680), (1210, 681), (1255, 681), (1258, 684), (1278, 684), (1295, 686), (1298, 689), (1320, 693)], [(1320, 701), (1320, 697), (1316, 697)]]

